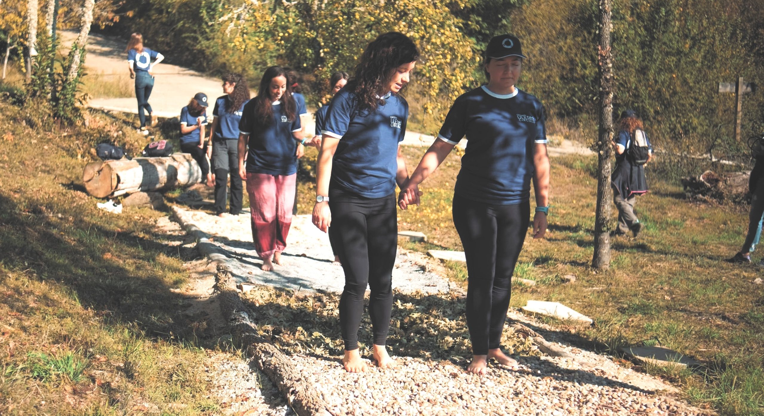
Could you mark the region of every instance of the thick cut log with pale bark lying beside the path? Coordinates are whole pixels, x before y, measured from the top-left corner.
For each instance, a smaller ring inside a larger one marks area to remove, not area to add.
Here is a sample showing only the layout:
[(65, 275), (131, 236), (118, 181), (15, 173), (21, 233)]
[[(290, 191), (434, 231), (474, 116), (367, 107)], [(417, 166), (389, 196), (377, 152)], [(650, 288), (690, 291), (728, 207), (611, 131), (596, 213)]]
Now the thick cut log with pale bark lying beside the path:
[(189, 153), (105, 160), (89, 163), (83, 172), (85, 189), (96, 198), (163, 191), (201, 181), (202, 169)]

